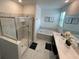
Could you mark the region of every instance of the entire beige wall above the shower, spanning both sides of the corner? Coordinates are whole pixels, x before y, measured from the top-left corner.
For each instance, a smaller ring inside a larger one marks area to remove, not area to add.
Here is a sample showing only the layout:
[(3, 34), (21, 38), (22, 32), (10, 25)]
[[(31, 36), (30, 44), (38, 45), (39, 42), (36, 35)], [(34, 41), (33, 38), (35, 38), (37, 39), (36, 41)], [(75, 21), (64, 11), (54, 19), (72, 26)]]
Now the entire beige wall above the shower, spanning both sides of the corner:
[(35, 5), (27, 4), (22, 6), (11, 0), (0, 0), (0, 12), (35, 16)]

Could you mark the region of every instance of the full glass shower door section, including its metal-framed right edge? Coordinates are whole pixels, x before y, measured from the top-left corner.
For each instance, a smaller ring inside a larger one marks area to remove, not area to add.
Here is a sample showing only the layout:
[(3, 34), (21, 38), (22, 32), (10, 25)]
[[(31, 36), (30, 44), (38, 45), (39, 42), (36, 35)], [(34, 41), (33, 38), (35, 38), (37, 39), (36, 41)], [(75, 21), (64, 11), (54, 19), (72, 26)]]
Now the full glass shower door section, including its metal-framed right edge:
[(30, 46), (33, 39), (33, 18), (17, 17), (16, 27), (17, 27), (18, 40), (25, 39), (28, 43), (28, 46)]

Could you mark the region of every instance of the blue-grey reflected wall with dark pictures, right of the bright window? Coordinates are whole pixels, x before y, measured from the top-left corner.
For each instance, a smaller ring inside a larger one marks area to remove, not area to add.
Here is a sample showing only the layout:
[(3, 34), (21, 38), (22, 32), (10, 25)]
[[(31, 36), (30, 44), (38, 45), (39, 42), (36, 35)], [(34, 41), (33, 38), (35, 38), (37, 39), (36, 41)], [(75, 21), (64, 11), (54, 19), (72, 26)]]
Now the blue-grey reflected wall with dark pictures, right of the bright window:
[(65, 15), (63, 31), (70, 31), (73, 35), (79, 38), (79, 16)]

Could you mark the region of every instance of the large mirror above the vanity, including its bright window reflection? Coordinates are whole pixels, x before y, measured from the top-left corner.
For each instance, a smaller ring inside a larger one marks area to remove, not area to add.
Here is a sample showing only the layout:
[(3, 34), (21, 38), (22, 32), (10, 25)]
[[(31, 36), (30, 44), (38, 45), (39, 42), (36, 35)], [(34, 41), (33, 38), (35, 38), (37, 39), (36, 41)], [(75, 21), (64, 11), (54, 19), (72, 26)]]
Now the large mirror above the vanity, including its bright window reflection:
[[(73, 3), (71, 3), (71, 4), (73, 4)], [(60, 29), (62, 29), (61, 32), (69, 31), (75, 37), (79, 38), (79, 11), (77, 9), (73, 9), (74, 6), (69, 11), (69, 8), (71, 8), (71, 4), (65, 6), (64, 8), (61, 9), (59, 27), (60, 27)], [(75, 12), (71, 12), (73, 10)]]

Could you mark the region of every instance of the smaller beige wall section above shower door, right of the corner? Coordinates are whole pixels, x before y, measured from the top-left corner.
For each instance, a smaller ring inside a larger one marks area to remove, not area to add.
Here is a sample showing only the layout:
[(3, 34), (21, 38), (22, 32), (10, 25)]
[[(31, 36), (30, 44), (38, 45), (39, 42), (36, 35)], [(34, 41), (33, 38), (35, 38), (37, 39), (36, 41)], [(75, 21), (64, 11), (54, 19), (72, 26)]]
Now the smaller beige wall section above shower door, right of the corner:
[(30, 15), (30, 16), (35, 16), (35, 5), (24, 5), (23, 9), (23, 14), (24, 15)]

